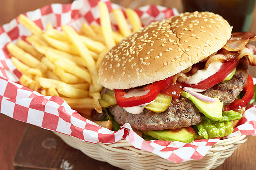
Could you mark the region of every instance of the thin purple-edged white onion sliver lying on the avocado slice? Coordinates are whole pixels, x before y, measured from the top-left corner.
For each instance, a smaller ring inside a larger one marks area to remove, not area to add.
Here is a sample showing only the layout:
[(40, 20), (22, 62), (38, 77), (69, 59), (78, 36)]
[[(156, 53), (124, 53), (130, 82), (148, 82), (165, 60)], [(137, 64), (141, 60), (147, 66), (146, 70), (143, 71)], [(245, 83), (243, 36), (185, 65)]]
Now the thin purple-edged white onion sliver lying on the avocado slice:
[(219, 100), (219, 98), (210, 98), (208, 96), (202, 95), (201, 93), (198, 92), (203, 92), (204, 90), (202, 89), (195, 89), (195, 88), (190, 88), (190, 87), (184, 87), (183, 88), (184, 91), (190, 93), (191, 95), (193, 95), (195, 98), (207, 102), (207, 103), (214, 103), (217, 102)]

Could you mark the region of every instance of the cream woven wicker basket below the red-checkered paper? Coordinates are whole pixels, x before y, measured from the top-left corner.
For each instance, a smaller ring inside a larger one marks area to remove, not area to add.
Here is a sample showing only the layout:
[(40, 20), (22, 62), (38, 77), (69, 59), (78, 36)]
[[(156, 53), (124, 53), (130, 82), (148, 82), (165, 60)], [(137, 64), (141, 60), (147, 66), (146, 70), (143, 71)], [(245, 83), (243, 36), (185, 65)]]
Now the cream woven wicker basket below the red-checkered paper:
[(209, 170), (220, 166), (234, 150), (246, 142), (247, 136), (234, 136), (219, 140), (201, 160), (173, 163), (144, 150), (134, 148), (126, 140), (113, 144), (89, 143), (72, 136), (53, 132), (69, 146), (81, 150), (87, 156), (107, 162), (125, 170)]

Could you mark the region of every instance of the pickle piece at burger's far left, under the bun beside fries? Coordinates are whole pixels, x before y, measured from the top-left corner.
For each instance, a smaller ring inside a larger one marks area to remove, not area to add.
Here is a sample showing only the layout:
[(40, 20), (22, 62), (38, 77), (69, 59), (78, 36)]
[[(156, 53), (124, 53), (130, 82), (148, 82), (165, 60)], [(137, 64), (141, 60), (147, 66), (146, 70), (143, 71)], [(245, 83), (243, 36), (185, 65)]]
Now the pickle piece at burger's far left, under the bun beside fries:
[(101, 99), (99, 99), (99, 104), (103, 108), (116, 105), (115, 90), (108, 90), (106, 93), (102, 94)]

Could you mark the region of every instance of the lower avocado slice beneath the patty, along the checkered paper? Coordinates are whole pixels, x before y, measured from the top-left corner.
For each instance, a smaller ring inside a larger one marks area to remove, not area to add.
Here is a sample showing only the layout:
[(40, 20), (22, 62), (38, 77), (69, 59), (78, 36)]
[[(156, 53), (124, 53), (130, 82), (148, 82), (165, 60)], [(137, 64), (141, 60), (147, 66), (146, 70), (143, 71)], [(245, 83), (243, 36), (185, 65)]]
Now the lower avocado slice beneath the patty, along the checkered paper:
[(185, 143), (191, 143), (194, 139), (197, 138), (197, 133), (193, 128), (181, 128), (180, 130), (152, 130), (152, 131), (143, 131), (145, 135), (152, 136), (158, 140), (167, 140), (167, 141), (179, 141)]

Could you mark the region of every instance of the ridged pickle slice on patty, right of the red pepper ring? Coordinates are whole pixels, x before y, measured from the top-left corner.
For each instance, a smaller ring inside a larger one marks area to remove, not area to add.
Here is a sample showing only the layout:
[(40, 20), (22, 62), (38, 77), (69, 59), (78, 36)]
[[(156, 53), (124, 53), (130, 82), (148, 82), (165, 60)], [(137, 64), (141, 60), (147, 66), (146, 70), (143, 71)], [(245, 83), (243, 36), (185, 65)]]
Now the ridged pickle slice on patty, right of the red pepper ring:
[(160, 113), (160, 112), (164, 112), (167, 109), (167, 107), (170, 105), (170, 102), (171, 102), (171, 96), (167, 96), (159, 93), (154, 102), (144, 107), (153, 112)]

